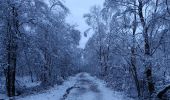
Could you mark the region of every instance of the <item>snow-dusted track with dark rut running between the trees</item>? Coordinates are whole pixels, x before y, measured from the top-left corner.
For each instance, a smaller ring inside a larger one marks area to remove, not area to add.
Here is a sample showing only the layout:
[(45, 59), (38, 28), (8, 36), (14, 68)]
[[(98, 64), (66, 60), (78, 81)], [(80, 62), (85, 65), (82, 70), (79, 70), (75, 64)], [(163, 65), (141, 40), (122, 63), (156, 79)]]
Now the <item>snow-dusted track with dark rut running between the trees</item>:
[(87, 73), (70, 77), (61, 86), (18, 100), (130, 100), (123, 94), (106, 87), (105, 82)]

